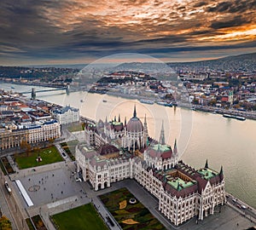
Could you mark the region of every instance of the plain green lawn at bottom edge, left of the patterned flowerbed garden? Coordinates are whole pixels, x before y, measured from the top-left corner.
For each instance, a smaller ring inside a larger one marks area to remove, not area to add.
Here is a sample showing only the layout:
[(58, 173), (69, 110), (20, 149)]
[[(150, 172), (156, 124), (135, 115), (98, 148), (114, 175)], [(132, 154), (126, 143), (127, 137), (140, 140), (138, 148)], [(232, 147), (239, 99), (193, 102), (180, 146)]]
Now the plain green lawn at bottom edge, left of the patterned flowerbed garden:
[(52, 221), (60, 230), (107, 230), (92, 204), (85, 204), (52, 216)]

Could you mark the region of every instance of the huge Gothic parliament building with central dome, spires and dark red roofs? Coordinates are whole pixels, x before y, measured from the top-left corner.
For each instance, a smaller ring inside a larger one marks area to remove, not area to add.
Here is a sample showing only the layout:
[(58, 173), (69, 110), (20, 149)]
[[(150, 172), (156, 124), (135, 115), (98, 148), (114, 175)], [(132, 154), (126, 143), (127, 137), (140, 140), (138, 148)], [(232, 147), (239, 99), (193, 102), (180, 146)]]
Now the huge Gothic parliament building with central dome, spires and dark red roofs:
[(166, 144), (162, 125), (160, 140), (148, 136), (147, 119), (137, 118), (136, 107), (126, 123), (120, 117), (86, 124), (86, 145), (76, 151), (78, 171), (95, 191), (111, 183), (135, 179), (159, 201), (158, 209), (175, 226), (194, 216), (213, 215), (226, 202), (224, 174), (208, 163), (199, 170), (178, 159), (177, 141)]

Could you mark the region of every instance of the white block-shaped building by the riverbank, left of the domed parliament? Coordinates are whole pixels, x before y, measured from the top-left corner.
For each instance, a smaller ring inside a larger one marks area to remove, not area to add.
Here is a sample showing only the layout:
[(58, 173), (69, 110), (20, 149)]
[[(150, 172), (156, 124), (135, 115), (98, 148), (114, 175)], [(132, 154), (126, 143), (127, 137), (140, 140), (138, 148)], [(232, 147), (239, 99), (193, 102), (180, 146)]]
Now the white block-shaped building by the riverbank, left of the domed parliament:
[(79, 122), (80, 115), (79, 109), (71, 106), (65, 106), (62, 109), (58, 109), (52, 112), (55, 119), (60, 124), (70, 124), (73, 122)]

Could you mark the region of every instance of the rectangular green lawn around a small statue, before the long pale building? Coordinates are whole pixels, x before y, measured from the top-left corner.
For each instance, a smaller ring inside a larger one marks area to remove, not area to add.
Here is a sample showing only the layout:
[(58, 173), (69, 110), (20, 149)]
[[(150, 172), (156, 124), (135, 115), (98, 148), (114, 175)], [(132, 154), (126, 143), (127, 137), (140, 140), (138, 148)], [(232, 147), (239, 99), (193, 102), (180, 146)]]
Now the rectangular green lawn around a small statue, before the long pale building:
[[(37, 162), (37, 158), (39, 156), (42, 158), (41, 162)], [(27, 169), (32, 167), (37, 167), (44, 164), (52, 164), (55, 162), (63, 161), (60, 153), (57, 151), (55, 146), (42, 148), (33, 152), (24, 152), (19, 155), (15, 155), (16, 163), (19, 168)]]

